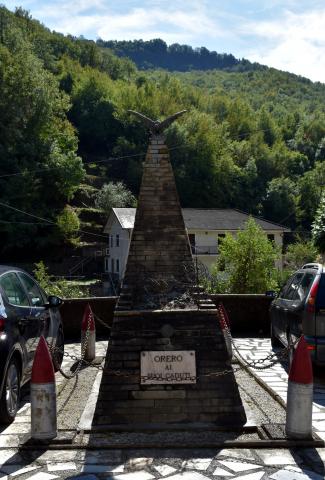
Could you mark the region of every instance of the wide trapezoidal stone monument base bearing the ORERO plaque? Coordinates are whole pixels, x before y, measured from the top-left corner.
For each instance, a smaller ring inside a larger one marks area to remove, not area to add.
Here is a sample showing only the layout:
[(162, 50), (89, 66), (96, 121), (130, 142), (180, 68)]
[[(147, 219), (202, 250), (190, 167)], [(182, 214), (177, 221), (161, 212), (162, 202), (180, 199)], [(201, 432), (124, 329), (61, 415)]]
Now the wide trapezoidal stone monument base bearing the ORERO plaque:
[(116, 311), (93, 426), (197, 422), (246, 423), (217, 310)]

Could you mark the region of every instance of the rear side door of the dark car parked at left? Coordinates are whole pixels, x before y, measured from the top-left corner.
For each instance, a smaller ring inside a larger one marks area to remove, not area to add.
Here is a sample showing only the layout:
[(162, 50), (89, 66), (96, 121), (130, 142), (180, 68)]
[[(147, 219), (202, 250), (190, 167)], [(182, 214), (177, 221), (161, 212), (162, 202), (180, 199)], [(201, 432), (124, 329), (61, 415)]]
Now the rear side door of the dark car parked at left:
[(34, 339), (37, 326), (31, 319), (31, 305), (27, 292), (15, 272), (7, 272), (0, 277), (0, 287), (6, 301), (6, 314), (10, 321), (10, 334), (13, 342), (19, 342), (23, 355), (24, 382), (31, 373), (34, 357)]

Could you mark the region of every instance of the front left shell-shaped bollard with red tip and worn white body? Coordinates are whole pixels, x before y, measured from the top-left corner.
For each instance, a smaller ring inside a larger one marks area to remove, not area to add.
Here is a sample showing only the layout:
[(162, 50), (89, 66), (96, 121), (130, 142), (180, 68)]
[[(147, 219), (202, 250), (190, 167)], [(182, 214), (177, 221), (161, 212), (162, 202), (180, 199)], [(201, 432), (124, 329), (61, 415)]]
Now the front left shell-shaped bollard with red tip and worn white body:
[(56, 390), (52, 358), (43, 335), (36, 349), (31, 378), (31, 437), (57, 436)]

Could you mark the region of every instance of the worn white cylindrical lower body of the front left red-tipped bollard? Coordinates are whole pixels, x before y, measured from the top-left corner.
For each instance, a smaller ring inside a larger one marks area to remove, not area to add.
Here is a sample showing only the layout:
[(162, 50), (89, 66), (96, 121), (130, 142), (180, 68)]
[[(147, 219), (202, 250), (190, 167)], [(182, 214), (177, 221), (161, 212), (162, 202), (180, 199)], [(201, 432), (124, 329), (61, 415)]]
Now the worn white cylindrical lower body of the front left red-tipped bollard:
[(55, 383), (31, 383), (31, 436), (51, 440), (57, 436)]

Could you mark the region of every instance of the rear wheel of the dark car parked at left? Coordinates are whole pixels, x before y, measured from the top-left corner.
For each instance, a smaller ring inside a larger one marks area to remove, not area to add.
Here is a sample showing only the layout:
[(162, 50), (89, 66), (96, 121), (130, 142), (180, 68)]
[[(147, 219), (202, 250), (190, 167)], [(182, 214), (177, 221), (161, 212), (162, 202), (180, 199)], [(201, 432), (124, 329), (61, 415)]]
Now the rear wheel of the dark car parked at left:
[(0, 399), (0, 422), (11, 423), (15, 419), (20, 399), (20, 368), (16, 359), (8, 365)]

